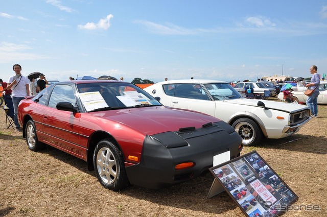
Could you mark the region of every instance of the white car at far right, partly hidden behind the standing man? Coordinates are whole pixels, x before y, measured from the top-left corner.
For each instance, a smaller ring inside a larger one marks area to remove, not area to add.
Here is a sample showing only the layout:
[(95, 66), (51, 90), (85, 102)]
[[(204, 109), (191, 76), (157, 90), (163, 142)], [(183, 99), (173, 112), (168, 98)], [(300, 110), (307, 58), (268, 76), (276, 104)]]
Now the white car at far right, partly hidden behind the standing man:
[[(310, 82), (309, 82), (310, 83)], [(304, 94), (306, 91), (306, 87), (304, 86), (294, 86), (292, 87), (292, 94), (296, 97), (300, 102), (306, 103), (308, 96)], [(318, 104), (327, 104), (327, 81), (320, 81), (319, 85), (319, 95), (318, 95)], [(280, 92), (278, 94), (278, 99), (284, 101), (284, 94)]]

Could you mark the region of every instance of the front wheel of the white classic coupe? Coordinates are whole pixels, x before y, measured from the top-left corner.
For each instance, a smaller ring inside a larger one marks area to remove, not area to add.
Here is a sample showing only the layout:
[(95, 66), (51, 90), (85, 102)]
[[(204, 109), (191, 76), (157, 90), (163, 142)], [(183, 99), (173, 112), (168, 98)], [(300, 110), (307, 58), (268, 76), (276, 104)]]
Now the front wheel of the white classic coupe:
[(242, 137), (244, 146), (254, 146), (262, 139), (262, 132), (258, 124), (249, 118), (236, 120), (232, 127)]

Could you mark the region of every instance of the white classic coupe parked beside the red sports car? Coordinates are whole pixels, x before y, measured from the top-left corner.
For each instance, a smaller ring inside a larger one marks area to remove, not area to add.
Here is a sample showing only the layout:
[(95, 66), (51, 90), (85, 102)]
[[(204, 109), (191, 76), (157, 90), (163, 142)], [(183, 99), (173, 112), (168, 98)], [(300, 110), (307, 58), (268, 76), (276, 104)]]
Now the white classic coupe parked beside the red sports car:
[(262, 136), (283, 138), (296, 133), (310, 120), (308, 106), (245, 99), (227, 82), (216, 80), (172, 80), (144, 88), (160, 103), (206, 113), (230, 124), (254, 145)]

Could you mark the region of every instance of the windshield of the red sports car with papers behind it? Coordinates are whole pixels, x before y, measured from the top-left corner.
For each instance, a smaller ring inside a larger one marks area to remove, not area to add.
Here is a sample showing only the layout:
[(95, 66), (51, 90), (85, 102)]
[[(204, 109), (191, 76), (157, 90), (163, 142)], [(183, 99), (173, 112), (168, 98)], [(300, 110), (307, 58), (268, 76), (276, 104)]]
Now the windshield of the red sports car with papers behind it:
[(131, 83), (85, 83), (78, 84), (77, 89), (86, 111), (161, 105), (146, 91)]

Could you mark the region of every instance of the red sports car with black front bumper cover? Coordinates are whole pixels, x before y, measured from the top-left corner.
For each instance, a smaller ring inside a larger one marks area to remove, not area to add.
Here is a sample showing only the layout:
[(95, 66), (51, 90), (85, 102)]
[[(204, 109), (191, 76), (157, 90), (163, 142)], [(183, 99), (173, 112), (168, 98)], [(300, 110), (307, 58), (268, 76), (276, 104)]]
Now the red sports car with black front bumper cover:
[(48, 144), (81, 158), (112, 190), (181, 183), (208, 171), (215, 155), (230, 151), (235, 158), (242, 150), (225, 122), (162, 106), (122, 81), (55, 83), (22, 100), (18, 119), (30, 150)]

